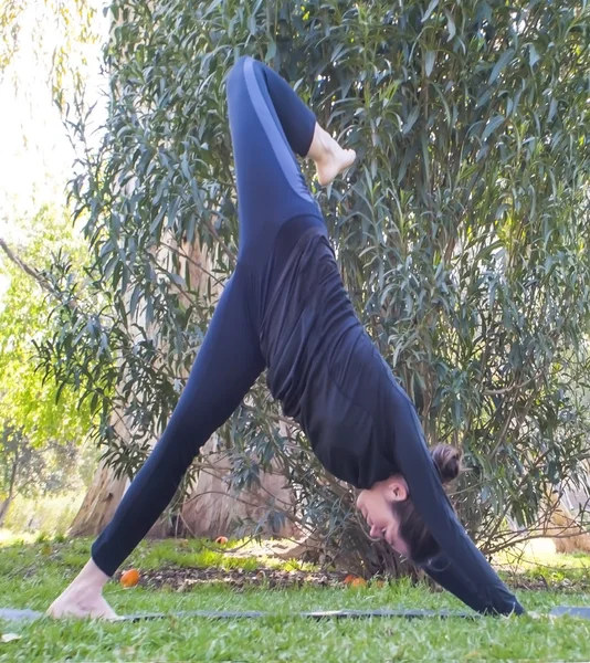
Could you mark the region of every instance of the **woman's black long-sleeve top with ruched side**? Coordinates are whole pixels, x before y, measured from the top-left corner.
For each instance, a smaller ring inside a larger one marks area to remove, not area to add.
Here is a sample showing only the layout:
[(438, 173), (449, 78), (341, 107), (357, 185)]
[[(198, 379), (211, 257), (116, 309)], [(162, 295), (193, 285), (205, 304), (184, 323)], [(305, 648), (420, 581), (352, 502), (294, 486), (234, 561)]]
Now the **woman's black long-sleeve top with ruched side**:
[(415, 409), (357, 318), (325, 232), (302, 235), (262, 311), (268, 387), (322, 464), (358, 488), (401, 473), (441, 547), (426, 573), (478, 612), (524, 612), (459, 522)]

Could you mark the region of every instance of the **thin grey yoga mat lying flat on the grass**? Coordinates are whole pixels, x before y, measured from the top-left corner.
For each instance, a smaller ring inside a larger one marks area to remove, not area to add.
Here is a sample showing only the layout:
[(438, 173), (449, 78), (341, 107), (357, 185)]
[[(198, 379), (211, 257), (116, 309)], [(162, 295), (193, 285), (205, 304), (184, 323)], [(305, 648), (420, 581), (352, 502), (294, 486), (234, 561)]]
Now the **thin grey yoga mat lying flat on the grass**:
[[(590, 607), (577, 606), (559, 606), (554, 608), (549, 613), (551, 617), (562, 617), (569, 614), (590, 619)], [(538, 617), (539, 615), (537, 613)], [(11, 608), (0, 608), (0, 619), (4, 620), (36, 620), (44, 617), (43, 612), (35, 610), (13, 610)], [(180, 612), (146, 612), (137, 614), (125, 614), (118, 617), (115, 621), (143, 621), (166, 619), (168, 617), (187, 618), (199, 617), (204, 619), (260, 619), (265, 617), (274, 617), (272, 612), (260, 611), (225, 611), (225, 610), (186, 610)], [(481, 615), (475, 612), (459, 612), (453, 610), (315, 610), (310, 612), (297, 612), (295, 617), (304, 617), (310, 619), (364, 619), (369, 617), (394, 618), (402, 617), (405, 619), (423, 619), (423, 618), (462, 618), (462, 619), (480, 619)]]

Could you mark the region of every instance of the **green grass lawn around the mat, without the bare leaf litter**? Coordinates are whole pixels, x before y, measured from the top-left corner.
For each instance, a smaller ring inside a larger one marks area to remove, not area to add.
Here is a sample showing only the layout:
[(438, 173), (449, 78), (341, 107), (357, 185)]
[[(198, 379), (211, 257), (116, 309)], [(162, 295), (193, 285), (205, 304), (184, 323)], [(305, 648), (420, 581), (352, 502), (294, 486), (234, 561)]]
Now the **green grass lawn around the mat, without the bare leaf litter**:
[[(20, 545), (4, 541), (0, 548), (0, 606), (44, 610), (86, 561), (89, 545), (88, 539), (65, 544), (53, 539)], [(147, 569), (159, 564), (180, 561), (190, 566), (207, 560), (215, 566), (235, 561), (219, 551), (212, 554), (202, 541), (145, 541), (125, 566)], [(563, 603), (590, 606), (590, 594), (517, 593), (529, 610), (547, 611)], [(412, 587), (408, 581), (382, 588), (240, 591), (199, 585), (187, 592), (123, 589), (112, 582), (105, 596), (119, 613), (264, 610), (271, 617), (253, 621), (170, 617), (139, 623), (0, 621), (0, 632), (21, 635), (21, 640), (0, 643), (0, 661), (590, 660), (590, 621), (573, 618), (310, 621), (294, 617), (295, 612), (313, 609), (462, 608), (447, 593)]]

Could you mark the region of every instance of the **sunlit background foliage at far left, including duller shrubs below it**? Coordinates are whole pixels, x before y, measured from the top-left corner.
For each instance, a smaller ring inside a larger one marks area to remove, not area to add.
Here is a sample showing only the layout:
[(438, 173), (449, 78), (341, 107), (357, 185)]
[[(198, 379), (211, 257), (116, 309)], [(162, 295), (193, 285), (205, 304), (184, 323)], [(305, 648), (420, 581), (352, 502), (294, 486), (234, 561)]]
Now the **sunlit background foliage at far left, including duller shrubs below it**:
[[(83, 251), (69, 224), (63, 211), (43, 207), (29, 221), (20, 260), (42, 273), (53, 266), (54, 252), (62, 252), (80, 265)], [(60, 386), (38, 370), (35, 345), (53, 335), (55, 303), (12, 262), (2, 261), (0, 273), (10, 278), (0, 302), (0, 497), (10, 502), (15, 494), (78, 487), (78, 448), (92, 418), (73, 386)]]

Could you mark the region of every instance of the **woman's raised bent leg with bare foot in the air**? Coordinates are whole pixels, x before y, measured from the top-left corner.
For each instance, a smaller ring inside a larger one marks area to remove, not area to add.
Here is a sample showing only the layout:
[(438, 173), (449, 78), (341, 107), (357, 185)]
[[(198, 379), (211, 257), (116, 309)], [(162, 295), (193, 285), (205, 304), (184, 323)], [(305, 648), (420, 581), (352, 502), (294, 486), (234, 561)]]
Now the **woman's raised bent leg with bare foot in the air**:
[(283, 221), (322, 215), (295, 154), (313, 158), (326, 183), (355, 152), (343, 150), (291, 85), (252, 57), (241, 57), (228, 76), (228, 107), (243, 254)]

